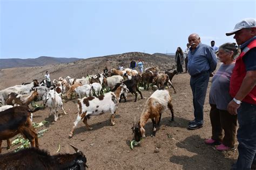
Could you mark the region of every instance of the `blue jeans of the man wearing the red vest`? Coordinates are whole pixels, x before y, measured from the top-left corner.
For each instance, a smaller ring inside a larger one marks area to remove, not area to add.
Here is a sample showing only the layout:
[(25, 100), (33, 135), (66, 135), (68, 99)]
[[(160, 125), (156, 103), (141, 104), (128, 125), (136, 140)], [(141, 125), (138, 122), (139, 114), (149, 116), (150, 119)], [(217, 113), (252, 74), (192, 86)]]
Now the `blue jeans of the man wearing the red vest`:
[(237, 131), (237, 169), (251, 169), (256, 153), (256, 105), (242, 102), (237, 110), (239, 128)]

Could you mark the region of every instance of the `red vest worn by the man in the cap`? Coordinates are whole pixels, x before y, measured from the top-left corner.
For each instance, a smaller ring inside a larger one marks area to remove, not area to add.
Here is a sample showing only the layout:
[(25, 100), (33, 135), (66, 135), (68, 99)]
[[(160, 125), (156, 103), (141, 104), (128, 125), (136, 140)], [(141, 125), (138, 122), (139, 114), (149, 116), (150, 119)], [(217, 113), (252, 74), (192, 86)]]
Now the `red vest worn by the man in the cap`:
[[(242, 60), (242, 57), (244, 57), (245, 54), (248, 51), (250, 51), (253, 47), (256, 47), (256, 39), (254, 39), (250, 44), (248, 44), (245, 47), (245, 49), (241, 52), (239, 57), (235, 60), (235, 66), (230, 79), (231, 97), (235, 97), (235, 94), (237, 94), (238, 90), (240, 89), (242, 80), (244, 80), (246, 75), (245, 63)], [(256, 86), (253, 87), (252, 91), (248, 93), (247, 96), (242, 101), (254, 105), (256, 104)]]

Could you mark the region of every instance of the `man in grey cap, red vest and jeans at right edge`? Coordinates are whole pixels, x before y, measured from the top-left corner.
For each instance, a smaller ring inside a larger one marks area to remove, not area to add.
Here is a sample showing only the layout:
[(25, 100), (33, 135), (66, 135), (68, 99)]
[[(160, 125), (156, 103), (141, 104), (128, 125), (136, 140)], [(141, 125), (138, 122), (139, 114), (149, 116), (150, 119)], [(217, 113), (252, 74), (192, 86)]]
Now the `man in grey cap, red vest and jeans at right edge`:
[(241, 53), (235, 60), (230, 79), (233, 100), (227, 106), (230, 114), (238, 115), (238, 160), (234, 169), (256, 168), (256, 19), (246, 18), (237, 23), (234, 39), (241, 45)]

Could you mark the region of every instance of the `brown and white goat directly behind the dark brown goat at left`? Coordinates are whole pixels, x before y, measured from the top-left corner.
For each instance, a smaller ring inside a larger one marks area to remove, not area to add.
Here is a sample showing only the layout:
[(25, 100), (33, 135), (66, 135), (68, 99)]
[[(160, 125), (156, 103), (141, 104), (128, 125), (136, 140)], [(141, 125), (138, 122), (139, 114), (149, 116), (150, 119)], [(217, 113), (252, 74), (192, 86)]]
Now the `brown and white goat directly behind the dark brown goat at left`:
[(14, 105), (14, 104), (18, 104), (18, 105), (25, 105), (28, 106), (31, 101), (37, 99), (37, 89), (35, 89), (35, 91), (32, 91), (30, 94), (17, 94), (14, 92), (11, 92), (10, 94), (8, 94), (8, 98), (6, 99), (6, 104), (7, 105)]

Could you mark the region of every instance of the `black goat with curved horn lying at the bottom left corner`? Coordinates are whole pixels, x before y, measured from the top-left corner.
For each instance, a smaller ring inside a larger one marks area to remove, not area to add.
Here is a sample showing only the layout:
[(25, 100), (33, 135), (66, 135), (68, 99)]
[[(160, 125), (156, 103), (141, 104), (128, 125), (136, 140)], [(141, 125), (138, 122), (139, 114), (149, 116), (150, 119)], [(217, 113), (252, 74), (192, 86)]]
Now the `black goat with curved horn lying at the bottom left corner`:
[[(72, 146), (72, 145), (71, 145)], [(83, 152), (72, 146), (76, 153), (51, 156), (38, 148), (26, 148), (16, 153), (0, 155), (0, 169), (86, 169)]]

